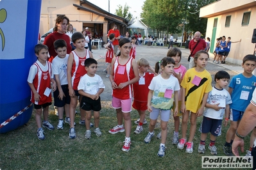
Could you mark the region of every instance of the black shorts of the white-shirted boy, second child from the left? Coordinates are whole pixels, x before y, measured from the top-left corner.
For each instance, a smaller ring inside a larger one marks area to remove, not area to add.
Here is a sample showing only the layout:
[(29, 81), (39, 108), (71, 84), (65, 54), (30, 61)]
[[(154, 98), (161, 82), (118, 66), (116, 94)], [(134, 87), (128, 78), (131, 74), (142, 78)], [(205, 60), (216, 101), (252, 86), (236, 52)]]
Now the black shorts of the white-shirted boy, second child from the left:
[(53, 97), (55, 99), (54, 101), (55, 101), (56, 107), (64, 107), (65, 104), (70, 104), (69, 86), (67, 84), (62, 85), (62, 91), (65, 95), (65, 97), (63, 97), (63, 100), (60, 100), (60, 98), (58, 98), (58, 95), (60, 94), (60, 91), (58, 91), (58, 88), (53, 92)]

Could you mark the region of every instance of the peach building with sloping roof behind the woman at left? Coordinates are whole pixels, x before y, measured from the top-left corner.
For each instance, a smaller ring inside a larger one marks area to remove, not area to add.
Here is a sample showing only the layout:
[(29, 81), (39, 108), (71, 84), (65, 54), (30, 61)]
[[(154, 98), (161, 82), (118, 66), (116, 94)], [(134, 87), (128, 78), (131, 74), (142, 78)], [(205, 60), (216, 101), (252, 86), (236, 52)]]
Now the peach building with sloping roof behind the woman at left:
[(55, 26), (58, 15), (66, 15), (76, 31), (81, 32), (85, 27), (89, 27), (92, 35), (102, 36), (105, 42), (108, 30), (112, 29), (114, 24), (121, 35), (125, 34), (128, 24), (128, 20), (123, 17), (106, 12), (86, 0), (42, 0), (40, 35)]

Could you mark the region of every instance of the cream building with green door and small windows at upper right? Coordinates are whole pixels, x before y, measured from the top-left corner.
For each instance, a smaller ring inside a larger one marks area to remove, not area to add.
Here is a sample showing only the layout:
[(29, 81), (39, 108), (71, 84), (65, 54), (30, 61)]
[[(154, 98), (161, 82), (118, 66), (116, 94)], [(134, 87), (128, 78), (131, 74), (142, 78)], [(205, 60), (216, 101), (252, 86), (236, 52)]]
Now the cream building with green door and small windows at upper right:
[(214, 52), (216, 38), (223, 35), (231, 37), (230, 54), (226, 61), (241, 64), (247, 54), (253, 54), (255, 43), (252, 43), (253, 29), (256, 29), (255, 0), (219, 0), (203, 6), (200, 17), (207, 18), (206, 37), (210, 37), (210, 52)]

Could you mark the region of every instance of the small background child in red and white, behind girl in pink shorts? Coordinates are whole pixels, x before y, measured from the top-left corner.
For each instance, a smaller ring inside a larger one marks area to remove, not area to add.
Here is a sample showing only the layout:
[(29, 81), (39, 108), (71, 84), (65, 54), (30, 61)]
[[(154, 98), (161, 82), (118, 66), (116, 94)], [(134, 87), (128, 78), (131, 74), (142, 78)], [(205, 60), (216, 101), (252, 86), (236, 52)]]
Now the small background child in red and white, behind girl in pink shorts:
[[(115, 35), (110, 34), (109, 35), (110, 41), (107, 43), (105, 46), (105, 49), (107, 49), (107, 54), (106, 54), (106, 63), (108, 63), (108, 66), (106, 68), (107, 70), (107, 75), (106, 77), (109, 78), (110, 74), (110, 63), (112, 62), (112, 59), (114, 58), (114, 45), (113, 42), (115, 40)], [(106, 70), (104, 70), (106, 72)]]

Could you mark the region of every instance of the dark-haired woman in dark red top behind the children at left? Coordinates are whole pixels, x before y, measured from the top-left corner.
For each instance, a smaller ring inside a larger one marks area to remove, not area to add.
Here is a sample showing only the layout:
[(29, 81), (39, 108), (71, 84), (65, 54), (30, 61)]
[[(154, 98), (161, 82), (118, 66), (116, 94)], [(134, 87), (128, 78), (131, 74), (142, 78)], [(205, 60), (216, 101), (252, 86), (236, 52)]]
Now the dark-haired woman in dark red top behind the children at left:
[(69, 19), (65, 15), (59, 15), (56, 18), (55, 27), (53, 28), (53, 33), (46, 36), (44, 39), (44, 45), (49, 49), (49, 61), (53, 61), (57, 53), (55, 52), (55, 47), (53, 43), (55, 40), (63, 39), (67, 43), (67, 54), (71, 53), (72, 47), (70, 45), (70, 38), (68, 35), (65, 35), (67, 31), (67, 26), (69, 25)]

